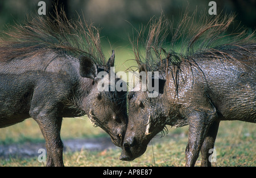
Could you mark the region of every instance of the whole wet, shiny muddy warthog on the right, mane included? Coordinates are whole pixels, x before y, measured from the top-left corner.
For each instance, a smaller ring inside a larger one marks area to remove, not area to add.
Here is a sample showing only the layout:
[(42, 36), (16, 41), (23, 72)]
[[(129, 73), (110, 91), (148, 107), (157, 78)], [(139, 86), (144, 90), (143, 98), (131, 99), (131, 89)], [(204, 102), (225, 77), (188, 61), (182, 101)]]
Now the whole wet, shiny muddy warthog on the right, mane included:
[[(129, 122), (121, 160), (141, 156), (166, 125), (189, 125), (186, 166), (195, 165), (200, 150), (201, 166), (211, 166), (209, 149), (213, 149), (220, 121), (256, 122), (255, 36), (246, 36), (245, 31), (224, 35), (233, 19), (217, 15), (196, 24), (193, 16), (185, 15), (173, 28), (169, 52), (163, 42), (171, 22), (163, 16), (152, 20), (144, 58), (138, 50), (143, 33), (138, 31), (133, 48), (139, 72), (157, 71), (159, 90), (156, 97), (149, 97), (149, 91), (141, 91), (140, 79), (129, 92)], [(175, 44), (180, 47), (176, 49)]]

